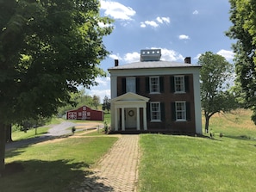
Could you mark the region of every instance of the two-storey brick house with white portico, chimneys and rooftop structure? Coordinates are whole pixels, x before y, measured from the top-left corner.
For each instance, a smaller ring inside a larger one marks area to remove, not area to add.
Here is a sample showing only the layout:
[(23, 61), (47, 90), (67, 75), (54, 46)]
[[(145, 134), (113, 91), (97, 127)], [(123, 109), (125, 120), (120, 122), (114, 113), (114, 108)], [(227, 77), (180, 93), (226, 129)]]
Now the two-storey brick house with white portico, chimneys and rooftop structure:
[(202, 133), (200, 65), (160, 60), (160, 49), (140, 51), (140, 62), (109, 68), (111, 130)]

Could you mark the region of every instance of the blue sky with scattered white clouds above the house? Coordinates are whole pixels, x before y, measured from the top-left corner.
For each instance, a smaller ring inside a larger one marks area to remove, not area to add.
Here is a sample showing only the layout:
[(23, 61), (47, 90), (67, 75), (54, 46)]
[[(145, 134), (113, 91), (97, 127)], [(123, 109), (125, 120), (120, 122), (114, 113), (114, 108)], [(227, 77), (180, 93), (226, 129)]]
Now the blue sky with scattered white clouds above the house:
[[(160, 48), (161, 60), (197, 65), (200, 54), (217, 53), (232, 63), (234, 53), (225, 31), (229, 21), (228, 0), (100, 0), (100, 15), (115, 20), (112, 34), (103, 38), (109, 57), (100, 67), (108, 72), (140, 60), (141, 49)], [(91, 96), (110, 98), (110, 77), (97, 77), (97, 86), (85, 90)]]

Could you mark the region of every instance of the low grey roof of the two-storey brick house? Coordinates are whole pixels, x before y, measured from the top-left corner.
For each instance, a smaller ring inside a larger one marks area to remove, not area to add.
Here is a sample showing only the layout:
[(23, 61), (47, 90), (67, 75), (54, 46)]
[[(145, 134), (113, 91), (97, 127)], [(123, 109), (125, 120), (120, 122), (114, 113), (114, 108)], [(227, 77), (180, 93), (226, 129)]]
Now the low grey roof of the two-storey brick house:
[(127, 65), (118, 65), (109, 68), (108, 70), (129, 70), (129, 69), (148, 69), (148, 68), (190, 68), (190, 67), (201, 67), (201, 65), (185, 64), (173, 61), (143, 61), (134, 62)]

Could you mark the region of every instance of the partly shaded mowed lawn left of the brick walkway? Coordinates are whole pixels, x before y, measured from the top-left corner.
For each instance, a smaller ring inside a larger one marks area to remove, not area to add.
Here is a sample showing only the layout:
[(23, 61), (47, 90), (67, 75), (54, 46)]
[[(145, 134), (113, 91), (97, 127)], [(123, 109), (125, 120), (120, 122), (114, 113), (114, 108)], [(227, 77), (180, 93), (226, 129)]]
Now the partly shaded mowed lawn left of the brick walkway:
[(2, 177), (0, 191), (71, 191), (90, 166), (116, 142), (114, 137), (55, 139), (6, 153), (6, 164), (21, 163), (19, 173)]

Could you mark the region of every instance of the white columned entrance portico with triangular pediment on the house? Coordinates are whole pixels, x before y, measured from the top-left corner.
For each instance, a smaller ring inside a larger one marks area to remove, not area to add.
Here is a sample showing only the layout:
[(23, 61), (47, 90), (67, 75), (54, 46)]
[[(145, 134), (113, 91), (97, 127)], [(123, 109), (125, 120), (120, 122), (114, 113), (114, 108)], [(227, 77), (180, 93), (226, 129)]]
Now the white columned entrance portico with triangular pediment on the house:
[(147, 102), (149, 98), (132, 92), (117, 96), (111, 100), (111, 116), (115, 117), (112, 128), (115, 131), (126, 131), (136, 127), (147, 130)]

